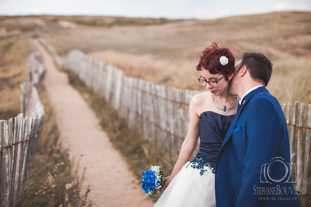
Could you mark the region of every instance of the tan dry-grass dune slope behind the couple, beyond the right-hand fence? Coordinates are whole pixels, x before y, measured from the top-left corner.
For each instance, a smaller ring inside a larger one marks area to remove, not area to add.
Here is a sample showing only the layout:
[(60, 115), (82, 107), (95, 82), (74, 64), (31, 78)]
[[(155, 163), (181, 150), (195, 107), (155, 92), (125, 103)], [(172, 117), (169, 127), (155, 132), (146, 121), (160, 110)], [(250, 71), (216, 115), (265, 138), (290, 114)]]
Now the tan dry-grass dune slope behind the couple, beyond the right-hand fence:
[(195, 70), (199, 56), (212, 41), (220, 41), (220, 46), (232, 50), (236, 60), (243, 52), (262, 52), (272, 59), (274, 72), (267, 88), (280, 102), (310, 103), (308, 86), (296, 84), (293, 76), (288, 75), (310, 74), (310, 16), (310, 12), (274, 12), (209, 21), (181, 20), (163, 25), (77, 27), (44, 34), (44, 37), (61, 55), (78, 48), (118, 66), (127, 75), (196, 90), (203, 89), (197, 83), (199, 72)]

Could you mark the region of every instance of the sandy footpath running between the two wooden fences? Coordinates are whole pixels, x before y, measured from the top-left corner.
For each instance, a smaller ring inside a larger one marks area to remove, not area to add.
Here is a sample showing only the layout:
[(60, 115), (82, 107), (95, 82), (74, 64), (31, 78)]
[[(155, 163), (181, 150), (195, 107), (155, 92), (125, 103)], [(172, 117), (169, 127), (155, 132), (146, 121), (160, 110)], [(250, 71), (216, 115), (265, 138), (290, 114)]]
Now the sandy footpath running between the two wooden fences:
[[(92, 206), (103, 207), (148, 207), (153, 206), (121, 153), (109, 142), (108, 135), (102, 131), (95, 112), (83, 100), (67, 80), (67, 74), (57, 70), (52, 56), (37, 40), (35, 44), (42, 52), (46, 68), (44, 85), (49, 101), (56, 113), (60, 139), (64, 147), (69, 147), (69, 156), (81, 157), (78, 175), (81, 178), (83, 167), (86, 167), (83, 182), (83, 194), (87, 185), (91, 185), (88, 200)], [(75, 168), (74, 168), (75, 169)]]

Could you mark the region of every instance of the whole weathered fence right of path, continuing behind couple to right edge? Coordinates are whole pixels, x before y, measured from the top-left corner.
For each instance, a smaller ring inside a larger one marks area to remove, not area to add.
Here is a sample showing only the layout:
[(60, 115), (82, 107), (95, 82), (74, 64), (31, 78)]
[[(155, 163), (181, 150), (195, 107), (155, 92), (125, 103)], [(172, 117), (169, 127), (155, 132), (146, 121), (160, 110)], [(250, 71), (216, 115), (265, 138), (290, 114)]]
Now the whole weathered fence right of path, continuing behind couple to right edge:
[[(179, 154), (188, 130), (190, 100), (193, 95), (204, 91), (165, 87), (126, 76), (121, 69), (106, 65), (77, 49), (73, 49), (66, 56), (60, 57), (53, 46), (44, 38), (39, 38), (39, 41), (54, 55), (59, 66), (77, 72), (79, 78), (87, 86), (96, 92), (100, 92), (106, 101), (124, 115), (128, 124), (143, 133), (146, 139), (152, 139), (161, 145), (168, 146), (171, 149), (169, 153), (172, 157)], [(288, 129), (291, 132), (289, 133), (291, 160), (297, 164), (297, 187), (303, 187), (303, 194), (305, 195), (309, 171), (311, 105), (308, 105), (308, 115), (305, 115), (304, 107), (305, 104), (301, 104), (299, 125), (297, 125), (298, 102), (295, 102), (293, 115), (290, 102), (287, 108), (286, 104), (282, 105), (286, 112)], [(290, 124), (291, 120), (292, 124)], [(305, 127), (303, 126), (304, 121)], [(296, 134), (297, 128), (298, 134)], [(307, 129), (304, 142), (303, 129)], [(296, 140), (298, 141), (297, 149), (295, 148)], [(303, 143), (305, 149), (302, 148)], [(295, 156), (297, 156), (297, 160)], [(303, 196), (303, 200), (305, 202), (305, 196)]]

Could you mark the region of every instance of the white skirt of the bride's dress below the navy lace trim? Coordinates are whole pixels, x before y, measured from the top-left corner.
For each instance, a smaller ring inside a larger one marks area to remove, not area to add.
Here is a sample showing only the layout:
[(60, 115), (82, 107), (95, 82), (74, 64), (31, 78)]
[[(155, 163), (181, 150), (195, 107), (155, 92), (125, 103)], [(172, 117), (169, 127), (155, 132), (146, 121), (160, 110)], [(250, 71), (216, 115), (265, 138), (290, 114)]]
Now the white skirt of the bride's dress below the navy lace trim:
[(215, 174), (209, 167), (203, 166), (207, 171), (200, 175), (201, 169), (191, 167), (190, 161), (183, 165), (162, 191), (154, 207), (216, 206)]

